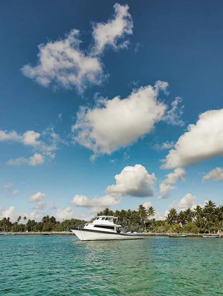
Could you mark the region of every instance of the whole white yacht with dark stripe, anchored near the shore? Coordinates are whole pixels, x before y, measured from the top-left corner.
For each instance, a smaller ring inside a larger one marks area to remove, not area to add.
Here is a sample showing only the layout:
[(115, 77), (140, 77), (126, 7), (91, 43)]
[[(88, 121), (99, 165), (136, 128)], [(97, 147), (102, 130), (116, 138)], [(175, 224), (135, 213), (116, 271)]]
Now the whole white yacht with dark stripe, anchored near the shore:
[(144, 238), (139, 234), (121, 233), (121, 225), (116, 224), (117, 219), (113, 216), (97, 216), (92, 223), (85, 224), (84, 228), (69, 228), (82, 241)]

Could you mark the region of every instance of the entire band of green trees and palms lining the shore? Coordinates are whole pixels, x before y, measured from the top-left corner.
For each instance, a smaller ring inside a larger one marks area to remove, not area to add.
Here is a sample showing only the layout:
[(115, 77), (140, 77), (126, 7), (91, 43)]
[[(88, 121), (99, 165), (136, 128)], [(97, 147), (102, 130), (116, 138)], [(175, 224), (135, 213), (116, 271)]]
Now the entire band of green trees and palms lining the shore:
[[(215, 203), (209, 200), (205, 207), (197, 206), (194, 210), (186, 209), (177, 212), (175, 208), (170, 209), (166, 220), (155, 220), (155, 210), (149, 207), (147, 210), (139, 205), (137, 210), (116, 210), (113, 212), (108, 208), (97, 214), (97, 216), (118, 217), (118, 223), (122, 225), (125, 232), (153, 232), (153, 233), (217, 233), (223, 230), (223, 205), (216, 207)], [(19, 223), (21, 220), (24, 223)], [(16, 222), (10, 222), (9, 218), (0, 221), (0, 231), (66, 231), (68, 226), (84, 227), (87, 221), (70, 219), (63, 222), (56, 221), (55, 217), (45, 216), (41, 222), (28, 220), (19, 216)], [(91, 219), (93, 221), (94, 218)], [(25, 223), (26, 222), (26, 223)]]

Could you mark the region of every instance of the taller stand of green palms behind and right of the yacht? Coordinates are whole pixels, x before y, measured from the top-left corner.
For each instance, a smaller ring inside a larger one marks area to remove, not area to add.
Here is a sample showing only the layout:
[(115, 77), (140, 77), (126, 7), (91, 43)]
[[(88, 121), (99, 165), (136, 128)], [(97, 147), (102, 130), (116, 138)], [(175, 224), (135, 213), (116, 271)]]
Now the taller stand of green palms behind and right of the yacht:
[(149, 207), (146, 210), (139, 205), (137, 211), (111, 211), (105, 209), (98, 215), (109, 215), (118, 217), (118, 223), (123, 226), (124, 231), (153, 232), (153, 233), (217, 233), (223, 230), (223, 205), (216, 207), (209, 200), (205, 207), (197, 206), (194, 210), (190, 208), (177, 212), (175, 208), (170, 209), (165, 221), (155, 220), (155, 210)]

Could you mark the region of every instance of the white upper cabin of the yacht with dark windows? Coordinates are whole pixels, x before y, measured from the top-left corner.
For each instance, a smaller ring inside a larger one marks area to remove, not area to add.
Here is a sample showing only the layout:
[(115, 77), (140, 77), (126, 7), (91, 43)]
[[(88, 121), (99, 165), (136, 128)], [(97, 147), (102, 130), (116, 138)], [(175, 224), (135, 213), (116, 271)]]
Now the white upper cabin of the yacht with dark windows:
[(97, 216), (92, 223), (85, 224), (84, 229), (119, 233), (121, 225), (116, 224), (117, 219), (113, 216)]

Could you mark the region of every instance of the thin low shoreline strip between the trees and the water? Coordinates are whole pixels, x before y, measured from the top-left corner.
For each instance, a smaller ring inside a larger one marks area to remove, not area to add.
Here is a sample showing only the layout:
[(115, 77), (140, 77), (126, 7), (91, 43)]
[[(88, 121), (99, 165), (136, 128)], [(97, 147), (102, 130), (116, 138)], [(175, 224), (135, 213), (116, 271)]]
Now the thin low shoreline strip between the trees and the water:
[[(7, 234), (8, 232), (0, 232), (0, 235), (4, 235)], [(74, 234), (73, 232), (68, 232), (68, 231), (62, 231), (62, 232), (11, 232), (12, 235), (61, 235), (61, 234), (68, 234), (68, 235), (72, 235)], [(178, 235), (181, 233), (145, 233), (142, 232), (140, 233), (141, 235), (144, 236), (168, 236), (168, 235)], [(205, 234), (205, 233), (185, 233), (187, 236), (203, 236), (203, 235), (218, 235), (217, 233), (211, 233), (211, 234)], [(75, 234), (74, 234), (75, 235)], [(221, 237), (221, 234), (220, 234)]]

